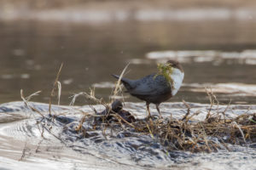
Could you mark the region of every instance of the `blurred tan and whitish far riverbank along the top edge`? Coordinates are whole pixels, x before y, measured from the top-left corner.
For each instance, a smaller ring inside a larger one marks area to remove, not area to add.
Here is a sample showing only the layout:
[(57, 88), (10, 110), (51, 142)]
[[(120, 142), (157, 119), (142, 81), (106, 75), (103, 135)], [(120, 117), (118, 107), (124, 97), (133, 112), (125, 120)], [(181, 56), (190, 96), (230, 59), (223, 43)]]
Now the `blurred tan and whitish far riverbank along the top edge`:
[(153, 20), (253, 20), (256, 3), (244, 1), (0, 1), (0, 20), (85, 23)]

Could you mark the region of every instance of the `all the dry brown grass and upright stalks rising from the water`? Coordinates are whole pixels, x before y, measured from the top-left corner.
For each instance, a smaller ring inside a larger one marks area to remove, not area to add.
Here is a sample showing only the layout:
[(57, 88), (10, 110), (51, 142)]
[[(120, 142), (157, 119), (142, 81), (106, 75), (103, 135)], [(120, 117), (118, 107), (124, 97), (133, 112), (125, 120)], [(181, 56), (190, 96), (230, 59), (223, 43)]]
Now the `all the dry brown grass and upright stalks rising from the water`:
[[(125, 69), (126, 68), (127, 66)], [(54, 97), (53, 94), (58, 84), (57, 82), (60, 72), (61, 69), (57, 74), (51, 97)], [(124, 73), (125, 70), (122, 72), (122, 75)], [(115, 90), (113, 90), (114, 95), (118, 95), (121, 92), (119, 81), (116, 84), (117, 86), (114, 88)], [(60, 93), (60, 91), (58, 92)], [(31, 99), (32, 95), (36, 95), (38, 93), (32, 94), (28, 98), (23, 96), (22, 90), (20, 94), (26, 106), (28, 106), (32, 111), (37, 112), (43, 118), (45, 117), (40, 113), (40, 111), (37, 111), (28, 104), (28, 99)], [(93, 89), (90, 90), (89, 94), (82, 92), (73, 95), (72, 105), (79, 95), (84, 95), (86, 99), (90, 99), (96, 102), (96, 104), (103, 105), (106, 109), (104, 114), (99, 114), (93, 108), (93, 105), (91, 105), (93, 110), (92, 113), (84, 113), (83, 111), (80, 111), (82, 118), (79, 122), (79, 126), (76, 128), (76, 131), (77, 133), (83, 133), (84, 138), (88, 138), (88, 135), (86, 135), (87, 129), (83, 127), (83, 123), (91, 120), (91, 117), (100, 117), (100, 119), (95, 119), (95, 126), (90, 129), (90, 131), (95, 130), (96, 127), (102, 128), (102, 134), (105, 136), (105, 139), (108, 139), (108, 135), (111, 135), (107, 134), (106, 130), (108, 128), (111, 130), (116, 128), (117, 130), (121, 129), (128, 132), (136, 132), (138, 135), (148, 134), (151, 138), (165, 146), (167, 150), (212, 152), (219, 149), (230, 150), (228, 144), (240, 144), (247, 146), (249, 143), (256, 142), (256, 113), (248, 114), (246, 112), (243, 115), (236, 116), (234, 118), (227, 118), (225, 116), (225, 112), (230, 105), (227, 105), (227, 108), (223, 112), (218, 110), (217, 113), (213, 112), (212, 107), (215, 105), (218, 107), (218, 99), (214, 94), (212, 94), (211, 89), (207, 89), (207, 95), (211, 103), (210, 109), (207, 112), (205, 120), (197, 122), (192, 121), (192, 117), (203, 113), (197, 111), (191, 115), (191, 107), (185, 101), (183, 101), (183, 104), (187, 107), (187, 113), (180, 120), (173, 119), (171, 115), (165, 119), (138, 119), (136, 121), (129, 122), (126, 117), (120, 115), (119, 111), (113, 111), (113, 108), (110, 105), (112, 101), (110, 101), (109, 104), (102, 99), (97, 99)], [(51, 102), (49, 102), (49, 105), (51, 105)], [(49, 115), (51, 116), (50, 110)], [(109, 117), (111, 117), (111, 119), (109, 119)], [(49, 119), (49, 121), (51, 120)], [(44, 125), (42, 127), (44, 127)], [(50, 132), (50, 129), (47, 127), (44, 127), (43, 129)]]

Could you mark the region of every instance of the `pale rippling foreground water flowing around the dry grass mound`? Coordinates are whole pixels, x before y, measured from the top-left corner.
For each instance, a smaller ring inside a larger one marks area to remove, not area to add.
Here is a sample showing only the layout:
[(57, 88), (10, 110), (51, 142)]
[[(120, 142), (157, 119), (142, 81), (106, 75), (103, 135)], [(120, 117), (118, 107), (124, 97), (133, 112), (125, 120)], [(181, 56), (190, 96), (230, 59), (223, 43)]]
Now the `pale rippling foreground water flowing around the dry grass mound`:
[[(33, 108), (48, 115), (48, 105), (30, 103)], [(191, 114), (201, 111), (195, 120), (207, 115), (210, 105), (189, 103)], [(102, 105), (94, 106), (102, 111)], [(52, 107), (54, 122), (46, 121), (38, 113), (30, 111), (23, 102), (0, 105), (1, 161), (3, 169), (255, 169), (255, 144), (247, 147), (230, 145), (229, 150), (212, 153), (190, 153), (166, 150), (157, 139), (148, 134), (124, 131), (122, 129), (101, 129), (83, 134), (76, 133), (81, 117), (79, 111), (91, 112), (85, 106)], [(143, 103), (126, 103), (125, 109), (136, 118), (145, 116)], [(157, 114), (151, 108), (153, 114)], [(213, 107), (212, 111), (224, 111), (226, 105)], [(183, 103), (162, 105), (164, 117), (181, 118), (187, 111)], [(251, 114), (256, 106), (230, 105), (227, 117)], [(90, 128), (90, 120), (84, 122)], [(43, 127), (41, 126), (44, 124)], [(48, 129), (48, 130), (46, 130)], [(42, 135), (43, 134), (43, 135)]]

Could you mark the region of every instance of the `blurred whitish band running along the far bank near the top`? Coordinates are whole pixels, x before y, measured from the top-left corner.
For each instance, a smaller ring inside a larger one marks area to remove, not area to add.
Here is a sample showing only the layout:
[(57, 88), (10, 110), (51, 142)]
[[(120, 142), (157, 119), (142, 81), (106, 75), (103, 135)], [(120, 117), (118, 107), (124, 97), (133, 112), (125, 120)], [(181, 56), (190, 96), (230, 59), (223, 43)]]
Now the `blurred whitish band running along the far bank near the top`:
[(57, 20), (86, 23), (110, 21), (159, 21), (159, 20), (253, 20), (253, 8), (61, 8), (32, 11), (9, 8), (0, 11), (0, 20)]

